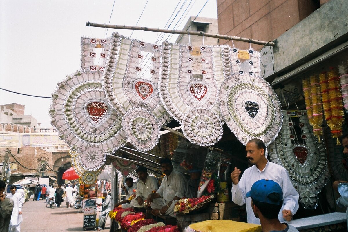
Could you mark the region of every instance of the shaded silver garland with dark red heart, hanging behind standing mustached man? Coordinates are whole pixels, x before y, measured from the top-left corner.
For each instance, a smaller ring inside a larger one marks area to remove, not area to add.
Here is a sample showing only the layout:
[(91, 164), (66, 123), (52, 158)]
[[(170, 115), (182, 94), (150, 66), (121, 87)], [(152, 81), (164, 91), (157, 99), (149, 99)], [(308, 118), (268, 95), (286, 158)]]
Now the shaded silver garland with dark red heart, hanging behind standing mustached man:
[[(317, 142), (309, 124), (306, 111), (296, 111), (299, 123), (294, 124), (283, 111), (282, 130), (274, 142), (269, 144), (271, 161), (282, 165), (289, 173), (292, 184), (300, 195), (300, 202), (305, 208), (315, 208), (318, 194), (330, 180), (324, 144)], [(290, 126), (289, 126), (290, 125)], [(302, 130), (304, 143), (294, 144), (295, 137), (290, 127)]]

